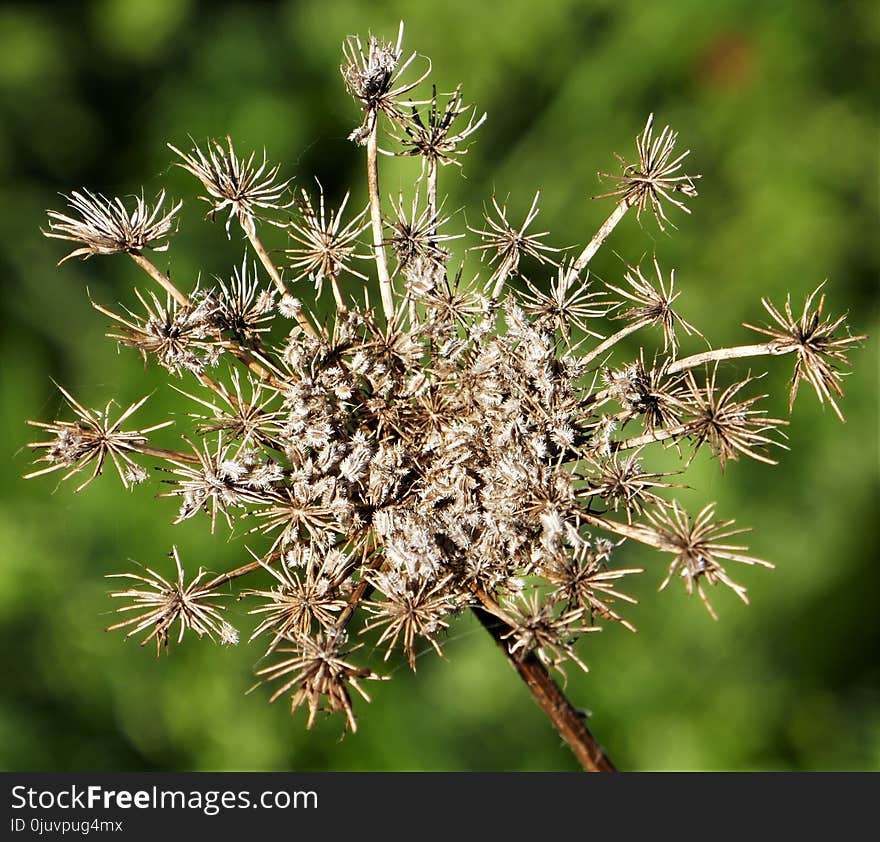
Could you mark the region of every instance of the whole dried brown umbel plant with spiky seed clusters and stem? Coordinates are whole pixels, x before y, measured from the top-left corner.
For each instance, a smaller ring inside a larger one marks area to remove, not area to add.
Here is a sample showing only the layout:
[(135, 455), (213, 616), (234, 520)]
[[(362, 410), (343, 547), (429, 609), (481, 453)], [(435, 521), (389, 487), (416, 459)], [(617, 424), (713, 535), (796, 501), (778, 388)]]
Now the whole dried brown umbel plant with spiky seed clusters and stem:
[[(404, 99), (427, 73), (402, 80), (416, 58), (403, 60), (402, 37), (401, 27), (394, 44), (349, 38), (343, 48), (345, 85), (364, 112), (351, 138), (366, 147), (369, 204), (360, 213), (345, 213), (347, 193), (328, 212), (320, 185), (317, 201), (305, 190), (295, 201), (279, 166), (239, 157), (231, 140), (188, 153), (171, 147), (201, 183), (210, 217), (224, 214), (227, 232), (237, 220), (253, 249), (256, 262), (246, 255), (228, 280), (183, 291), (144, 256), (174, 232), (180, 203), (163, 213), (164, 193), (154, 207), (141, 198), (128, 211), (81, 191), (71, 194), (71, 215), (49, 212), (47, 236), (79, 246), (68, 258), (128, 254), (161, 288), (138, 291), (134, 309), (95, 306), (116, 342), (189, 381), (178, 391), (190, 429), (183, 447), (158, 447), (152, 434), (169, 421), (128, 429), (145, 399), (113, 421), (109, 404), (91, 411), (62, 389), (75, 418), (32, 422), (47, 440), (31, 445), (39, 467), (27, 476), (84, 471), (82, 488), (109, 459), (129, 487), (158, 461), (175, 522), (205, 515), (212, 531), (240, 524), (253, 558), (211, 579), (199, 570), (186, 584), (176, 549), (174, 579), (149, 568), (119, 574), (131, 587), (112, 596), (131, 617), (111, 629), (145, 634), (159, 651), (175, 623), (178, 641), (191, 631), (234, 642), (227, 604), (216, 598), (241, 584), (250, 640), (271, 659), (258, 675), (278, 682), (271, 699), (305, 706), (308, 725), (321, 711), (341, 712), (354, 729), (356, 697), (367, 698), (361, 682), (379, 675), (356, 663), (362, 644), (347, 641), (366, 635), (384, 659), (399, 650), (415, 669), (472, 610), (584, 767), (612, 769), (550, 671), (564, 678), (568, 664), (586, 669), (579, 641), (601, 623), (635, 630), (623, 580), (643, 571), (617, 566), (618, 546), (670, 554), (660, 589), (683, 580), (713, 616), (715, 585), (747, 601), (732, 568), (771, 566), (731, 543), (744, 530), (718, 519), (713, 505), (687, 514), (672, 496), (681, 484), (651, 467), (652, 452), (674, 446), (677, 473), (703, 448), (722, 469), (740, 458), (773, 464), (769, 448), (781, 444), (786, 422), (761, 408), (756, 377), (724, 382), (724, 363), (793, 354), (791, 402), (806, 381), (841, 415), (843, 368), (863, 337), (845, 317), (826, 316), (817, 291), (799, 317), (789, 301), (779, 310), (765, 300), (772, 324), (753, 328), (767, 337), (761, 344), (681, 356), (682, 339), (702, 334), (680, 315), (674, 273), (657, 257), (653, 273), (631, 266), (605, 285), (588, 276), (629, 210), (652, 213), (662, 228), (670, 207), (687, 210), (682, 199), (696, 196), (697, 176), (683, 172), (687, 153), (677, 153), (668, 127), (655, 136), (653, 117), (636, 163), (621, 159), (606, 194), (615, 207), (576, 257), (558, 259), (563, 250), (533, 230), (539, 192), (519, 225), (492, 196), (485, 224), (469, 229), (488, 281), (467, 263), (453, 270), (453, 241), (465, 233), (440, 232), (454, 215), (439, 210), (438, 164), (459, 164), (484, 118), (471, 110), (453, 130), (466, 110), (460, 88), (445, 109), (436, 90), (421, 103)], [(392, 199), (389, 216), (380, 123), (390, 154), (421, 161), (412, 204)], [(284, 266), (259, 237), (267, 223), (289, 235)], [(386, 247), (397, 258), (393, 275)], [(314, 302), (327, 286), (335, 307), (321, 319)], [(662, 342), (615, 359), (637, 332)]]

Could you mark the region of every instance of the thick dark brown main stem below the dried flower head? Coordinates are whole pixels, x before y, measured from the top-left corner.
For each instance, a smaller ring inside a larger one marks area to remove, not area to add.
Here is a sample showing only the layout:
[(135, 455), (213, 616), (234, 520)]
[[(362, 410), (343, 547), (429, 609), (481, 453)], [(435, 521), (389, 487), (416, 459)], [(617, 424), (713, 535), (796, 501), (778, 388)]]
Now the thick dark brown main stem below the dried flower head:
[(513, 664), (520, 678), (535, 697), (535, 701), (550, 718), (553, 727), (568, 744), (584, 771), (616, 772), (611, 759), (587, 728), (583, 714), (572, 706), (534, 652), (523, 657), (512, 655), (503, 639), (503, 635), (510, 630), (510, 627), (483, 606), (475, 606), (473, 612)]

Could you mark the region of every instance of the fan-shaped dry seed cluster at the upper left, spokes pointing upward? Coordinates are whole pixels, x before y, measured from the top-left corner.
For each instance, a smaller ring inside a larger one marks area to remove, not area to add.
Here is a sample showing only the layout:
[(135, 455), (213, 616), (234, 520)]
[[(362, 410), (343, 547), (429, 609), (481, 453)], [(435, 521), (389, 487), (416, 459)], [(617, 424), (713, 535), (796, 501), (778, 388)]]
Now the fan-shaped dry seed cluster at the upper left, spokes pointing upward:
[(43, 234), (81, 245), (62, 257), (59, 264), (72, 257), (86, 259), (95, 254), (137, 254), (144, 249), (165, 251), (168, 239), (177, 230), (177, 212), (183, 206), (183, 202), (178, 202), (163, 212), (164, 190), (152, 206), (141, 192), (134, 197), (131, 210), (122, 199), (108, 199), (89, 190), (74, 190), (64, 198), (76, 215), (48, 211), (49, 230)]

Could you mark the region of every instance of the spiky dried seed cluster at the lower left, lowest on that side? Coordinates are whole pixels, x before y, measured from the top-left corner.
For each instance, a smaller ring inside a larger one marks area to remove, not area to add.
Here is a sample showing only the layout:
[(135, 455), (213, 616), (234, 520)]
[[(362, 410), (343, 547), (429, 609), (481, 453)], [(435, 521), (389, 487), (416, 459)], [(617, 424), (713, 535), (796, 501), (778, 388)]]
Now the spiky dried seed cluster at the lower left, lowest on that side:
[(195, 578), (186, 584), (177, 547), (173, 547), (169, 555), (174, 559), (176, 567), (177, 578), (174, 580), (166, 579), (149, 567), (143, 568), (143, 574), (113, 573), (108, 576), (110, 579), (127, 579), (134, 583), (125, 590), (113, 591), (110, 596), (130, 600), (128, 605), (117, 608), (116, 613), (134, 613), (135, 616), (108, 626), (107, 631), (128, 629), (125, 635), (127, 638), (147, 632), (141, 646), (155, 640), (157, 655), (162, 653), (163, 648), (168, 651), (175, 623), (179, 629), (178, 643), (183, 641), (187, 631), (212, 640), (216, 637), (221, 643), (237, 643), (238, 632), (223, 619), (220, 613), (222, 606), (213, 602), (225, 594), (215, 593), (210, 583), (201, 584), (206, 576), (205, 570), (201, 568)]

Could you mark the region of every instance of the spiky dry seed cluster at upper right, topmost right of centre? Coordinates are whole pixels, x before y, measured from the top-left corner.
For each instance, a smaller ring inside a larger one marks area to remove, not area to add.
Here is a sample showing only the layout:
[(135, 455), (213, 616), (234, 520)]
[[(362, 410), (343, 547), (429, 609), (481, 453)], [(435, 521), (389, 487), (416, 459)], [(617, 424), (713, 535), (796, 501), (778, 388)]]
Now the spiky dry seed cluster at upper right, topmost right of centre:
[(616, 179), (617, 187), (596, 198), (619, 196), (625, 199), (630, 207), (635, 206), (638, 217), (641, 217), (645, 209), (650, 210), (661, 231), (665, 230), (665, 224), (672, 224), (663, 210), (664, 202), (669, 202), (685, 213), (690, 213), (690, 209), (677, 198), (677, 195), (687, 198), (696, 196), (694, 181), (700, 176), (686, 175), (682, 172), (682, 162), (690, 154), (690, 150), (673, 157), (677, 140), (678, 133), (672, 131), (669, 126), (665, 126), (655, 137), (654, 115), (650, 114), (642, 134), (636, 138), (638, 163), (629, 164), (618, 155), (617, 158), (623, 166), (621, 175), (599, 173), (600, 177)]

